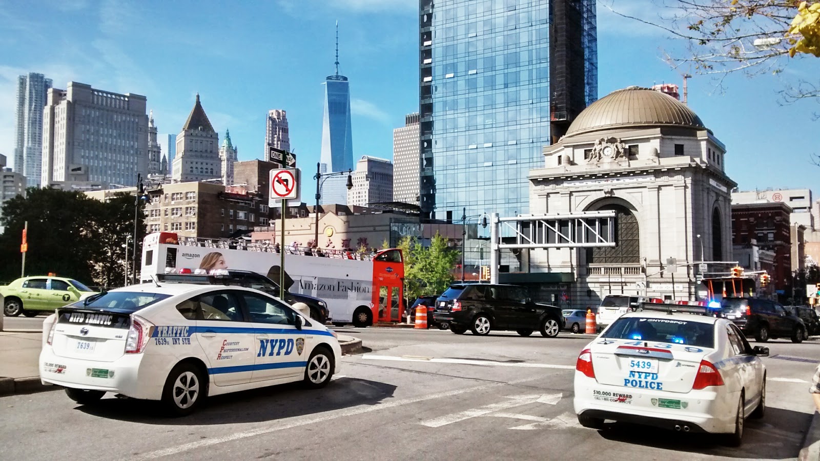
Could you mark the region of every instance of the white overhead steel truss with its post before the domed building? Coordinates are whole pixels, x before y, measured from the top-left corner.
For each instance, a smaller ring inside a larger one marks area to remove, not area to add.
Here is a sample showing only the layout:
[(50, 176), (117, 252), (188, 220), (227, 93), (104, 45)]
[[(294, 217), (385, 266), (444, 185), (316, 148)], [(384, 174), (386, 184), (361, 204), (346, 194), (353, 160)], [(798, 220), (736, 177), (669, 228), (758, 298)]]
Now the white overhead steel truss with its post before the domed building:
[[(501, 249), (600, 248), (613, 247), (615, 212), (576, 212), (542, 216), (491, 216), (490, 282), (499, 281)], [(515, 237), (515, 243), (503, 243), (501, 235)]]

